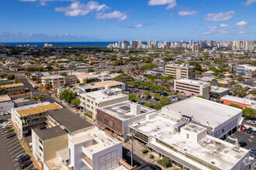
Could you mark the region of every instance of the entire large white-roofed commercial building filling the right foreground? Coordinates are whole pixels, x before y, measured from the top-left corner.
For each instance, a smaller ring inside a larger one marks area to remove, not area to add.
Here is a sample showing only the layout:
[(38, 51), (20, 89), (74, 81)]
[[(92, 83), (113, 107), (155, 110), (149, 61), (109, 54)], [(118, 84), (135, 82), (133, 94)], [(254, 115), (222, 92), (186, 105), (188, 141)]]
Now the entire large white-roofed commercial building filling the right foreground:
[(249, 169), (248, 150), (219, 139), (237, 126), (239, 117), (237, 108), (192, 97), (147, 114), (130, 132), (154, 155), (182, 169), (244, 170)]

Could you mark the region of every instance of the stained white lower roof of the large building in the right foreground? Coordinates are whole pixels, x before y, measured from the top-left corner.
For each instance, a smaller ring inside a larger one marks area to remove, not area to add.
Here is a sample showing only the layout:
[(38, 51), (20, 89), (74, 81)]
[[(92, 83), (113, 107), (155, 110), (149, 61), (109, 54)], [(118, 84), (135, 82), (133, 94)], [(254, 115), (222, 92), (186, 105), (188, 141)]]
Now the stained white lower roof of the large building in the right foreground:
[[(214, 165), (221, 169), (232, 168), (240, 158), (248, 152), (244, 148), (234, 148), (234, 145), (209, 135), (206, 135), (206, 137), (202, 138), (199, 142), (190, 141), (183, 137), (178, 131), (174, 130), (174, 125), (177, 124), (178, 121), (179, 120), (176, 117), (171, 117), (169, 114), (160, 112), (156, 114), (155, 117), (151, 117), (146, 121), (139, 121), (130, 127), (140, 131), (142, 134), (146, 134), (147, 136), (158, 138), (165, 144), (177, 148), (178, 151), (189, 153), (196, 158), (200, 158), (204, 162), (208, 162), (209, 164), (214, 162)], [(198, 124), (192, 123), (186, 124), (182, 128), (185, 128), (187, 131), (204, 131), (206, 129)], [(193, 162), (192, 159), (164, 147), (164, 145), (161, 145), (156, 141), (150, 142), (149, 145), (157, 146), (171, 155), (176, 155), (178, 158), (181, 158), (185, 162), (189, 162), (191, 165), (195, 165), (196, 167), (199, 165), (197, 162)], [(200, 168), (206, 168), (202, 165), (199, 166)]]

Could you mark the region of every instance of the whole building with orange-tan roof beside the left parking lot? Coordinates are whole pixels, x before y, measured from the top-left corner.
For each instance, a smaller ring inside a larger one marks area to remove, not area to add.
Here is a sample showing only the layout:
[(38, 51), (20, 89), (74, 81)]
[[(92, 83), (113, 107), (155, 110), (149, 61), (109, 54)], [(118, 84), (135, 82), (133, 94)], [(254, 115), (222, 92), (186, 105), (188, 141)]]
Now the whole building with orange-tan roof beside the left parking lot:
[(22, 137), (22, 134), (29, 133), (32, 128), (45, 127), (45, 114), (47, 110), (58, 110), (61, 108), (59, 104), (50, 104), (50, 102), (12, 108), (12, 122), (16, 125)]

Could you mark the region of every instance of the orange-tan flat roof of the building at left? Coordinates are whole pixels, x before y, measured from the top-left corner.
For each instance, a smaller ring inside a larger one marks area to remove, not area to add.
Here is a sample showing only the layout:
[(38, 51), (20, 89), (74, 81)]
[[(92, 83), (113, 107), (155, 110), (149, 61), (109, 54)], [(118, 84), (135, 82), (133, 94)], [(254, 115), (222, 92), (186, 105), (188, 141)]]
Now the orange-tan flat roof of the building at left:
[(17, 110), (17, 112), (20, 115), (20, 117), (25, 117), (32, 114), (40, 114), (45, 112), (46, 110), (57, 110), (61, 108), (62, 107), (59, 104), (54, 103), (54, 104), (47, 104), (47, 105), (38, 106), (38, 107), (27, 108), (23, 110)]

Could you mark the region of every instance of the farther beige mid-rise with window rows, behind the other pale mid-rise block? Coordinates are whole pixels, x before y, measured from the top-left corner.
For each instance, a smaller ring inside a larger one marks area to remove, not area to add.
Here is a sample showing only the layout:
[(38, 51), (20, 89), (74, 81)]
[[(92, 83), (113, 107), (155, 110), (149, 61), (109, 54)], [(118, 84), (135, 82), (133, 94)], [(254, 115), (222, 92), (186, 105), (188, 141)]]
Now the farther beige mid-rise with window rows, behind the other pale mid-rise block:
[(165, 66), (166, 76), (175, 76), (176, 79), (195, 79), (195, 66), (189, 66), (189, 64), (167, 64)]

